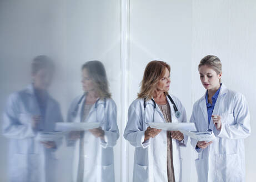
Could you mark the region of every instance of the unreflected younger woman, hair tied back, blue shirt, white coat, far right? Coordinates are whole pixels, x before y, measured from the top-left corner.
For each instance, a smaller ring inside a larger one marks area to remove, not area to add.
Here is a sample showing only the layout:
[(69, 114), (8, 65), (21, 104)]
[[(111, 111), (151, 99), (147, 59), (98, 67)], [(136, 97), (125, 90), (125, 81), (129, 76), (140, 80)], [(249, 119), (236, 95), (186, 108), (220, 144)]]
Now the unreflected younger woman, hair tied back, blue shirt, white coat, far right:
[(199, 132), (212, 129), (214, 141), (191, 139), (198, 152), (198, 181), (245, 181), (244, 138), (250, 134), (249, 109), (244, 95), (221, 83), (222, 63), (214, 55), (198, 65), (206, 90), (194, 103), (190, 122)]

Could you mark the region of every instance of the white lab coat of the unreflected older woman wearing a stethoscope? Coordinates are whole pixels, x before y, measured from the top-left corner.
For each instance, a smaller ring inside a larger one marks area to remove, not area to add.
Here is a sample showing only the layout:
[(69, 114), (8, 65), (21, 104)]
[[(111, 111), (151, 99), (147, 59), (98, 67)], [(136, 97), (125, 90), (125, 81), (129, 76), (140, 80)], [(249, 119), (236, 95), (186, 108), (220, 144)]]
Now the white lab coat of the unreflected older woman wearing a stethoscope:
[[(179, 99), (172, 96), (179, 112), (179, 118), (175, 117), (173, 104), (167, 97), (170, 105), (172, 123), (187, 122), (186, 112)], [(144, 118), (144, 99), (136, 99), (128, 110), (128, 123), (124, 131), (124, 138), (135, 146), (133, 181), (168, 181), (167, 178), (167, 134), (160, 132), (155, 138), (144, 141), (145, 130), (149, 127), (145, 122), (153, 122), (154, 104), (152, 100), (146, 102)], [(145, 121), (145, 122), (144, 122)], [(154, 122), (165, 122), (164, 116), (158, 105), (155, 109)], [(185, 136), (184, 136), (185, 137)], [(180, 146), (185, 146), (187, 137), (183, 142), (172, 140), (173, 166), (175, 181), (182, 181), (182, 158)]]

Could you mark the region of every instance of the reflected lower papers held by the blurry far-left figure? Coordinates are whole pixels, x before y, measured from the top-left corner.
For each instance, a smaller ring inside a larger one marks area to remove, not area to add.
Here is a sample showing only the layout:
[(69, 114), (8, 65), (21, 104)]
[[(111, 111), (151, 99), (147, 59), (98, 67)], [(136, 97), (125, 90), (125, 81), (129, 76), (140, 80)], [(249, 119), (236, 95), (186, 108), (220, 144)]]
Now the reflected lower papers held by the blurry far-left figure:
[(62, 138), (66, 132), (38, 132), (36, 140), (38, 141), (55, 141)]

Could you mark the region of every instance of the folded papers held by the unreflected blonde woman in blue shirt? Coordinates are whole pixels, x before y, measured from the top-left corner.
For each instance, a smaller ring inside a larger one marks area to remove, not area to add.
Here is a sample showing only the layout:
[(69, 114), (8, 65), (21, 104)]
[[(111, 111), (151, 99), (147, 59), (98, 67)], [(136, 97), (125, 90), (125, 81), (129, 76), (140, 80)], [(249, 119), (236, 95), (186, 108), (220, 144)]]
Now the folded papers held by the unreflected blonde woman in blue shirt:
[(211, 129), (208, 129), (206, 132), (190, 132), (185, 130), (180, 132), (198, 141), (212, 141), (215, 139), (215, 135)]

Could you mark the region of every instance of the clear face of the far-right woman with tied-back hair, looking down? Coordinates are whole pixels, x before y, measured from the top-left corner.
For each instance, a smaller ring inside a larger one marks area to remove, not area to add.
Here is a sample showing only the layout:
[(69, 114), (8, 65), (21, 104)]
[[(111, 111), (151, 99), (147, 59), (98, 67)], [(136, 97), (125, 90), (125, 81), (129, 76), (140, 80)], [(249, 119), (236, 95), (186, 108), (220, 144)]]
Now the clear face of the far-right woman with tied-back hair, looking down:
[(219, 79), (222, 77), (222, 73), (217, 74), (214, 69), (208, 65), (202, 65), (199, 68), (200, 80), (205, 89), (218, 89)]

